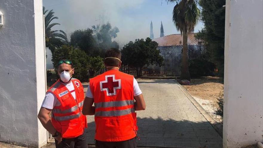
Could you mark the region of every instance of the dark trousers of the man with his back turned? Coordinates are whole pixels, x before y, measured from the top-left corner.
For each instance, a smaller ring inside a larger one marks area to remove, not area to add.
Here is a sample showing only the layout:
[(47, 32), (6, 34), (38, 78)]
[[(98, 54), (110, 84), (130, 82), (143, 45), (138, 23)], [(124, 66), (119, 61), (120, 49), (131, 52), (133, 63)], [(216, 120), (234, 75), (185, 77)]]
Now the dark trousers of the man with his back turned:
[(118, 141), (118, 142), (105, 142), (96, 140), (96, 148), (137, 148), (135, 137), (126, 140), (126, 141)]

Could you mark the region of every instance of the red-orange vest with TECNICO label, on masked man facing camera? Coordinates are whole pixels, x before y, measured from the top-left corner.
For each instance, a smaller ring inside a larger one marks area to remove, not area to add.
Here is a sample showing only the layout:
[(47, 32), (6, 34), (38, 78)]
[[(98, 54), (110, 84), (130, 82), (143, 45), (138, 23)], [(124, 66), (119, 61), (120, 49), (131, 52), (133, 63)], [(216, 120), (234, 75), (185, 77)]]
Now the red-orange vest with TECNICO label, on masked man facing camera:
[(75, 78), (72, 78), (71, 81), (74, 85), (76, 100), (67, 87), (59, 80), (47, 91), (53, 93), (60, 103), (60, 106), (54, 106), (51, 121), (54, 128), (61, 133), (62, 138), (78, 137), (88, 127), (87, 118), (82, 114), (84, 101), (83, 86)]

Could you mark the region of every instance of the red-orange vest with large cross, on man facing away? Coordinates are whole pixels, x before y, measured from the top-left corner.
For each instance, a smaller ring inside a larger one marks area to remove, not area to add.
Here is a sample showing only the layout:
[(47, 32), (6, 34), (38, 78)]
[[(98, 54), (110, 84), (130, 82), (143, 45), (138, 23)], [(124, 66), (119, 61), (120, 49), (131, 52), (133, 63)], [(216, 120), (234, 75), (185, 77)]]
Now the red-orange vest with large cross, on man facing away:
[(136, 137), (133, 76), (109, 70), (90, 79), (95, 103), (95, 139), (126, 141)]

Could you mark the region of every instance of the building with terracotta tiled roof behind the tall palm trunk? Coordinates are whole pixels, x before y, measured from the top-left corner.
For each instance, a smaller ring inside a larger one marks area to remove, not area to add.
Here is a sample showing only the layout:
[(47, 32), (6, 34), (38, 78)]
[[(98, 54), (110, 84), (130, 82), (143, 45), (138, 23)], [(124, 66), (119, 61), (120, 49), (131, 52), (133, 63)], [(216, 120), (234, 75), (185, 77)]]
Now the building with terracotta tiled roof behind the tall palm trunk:
[[(196, 39), (195, 34), (196, 33), (188, 34), (187, 45), (189, 59), (198, 57), (204, 52), (202, 41)], [(155, 71), (158, 71), (159, 69), (160, 74), (180, 76), (183, 35), (170, 34), (153, 40), (158, 43), (158, 49), (160, 50), (160, 54), (163, 56), (164, 59), (162, 69), (159, 66), (155, 66)], [(149, 68), (149, 70), (151, 70), (151, 68)]]

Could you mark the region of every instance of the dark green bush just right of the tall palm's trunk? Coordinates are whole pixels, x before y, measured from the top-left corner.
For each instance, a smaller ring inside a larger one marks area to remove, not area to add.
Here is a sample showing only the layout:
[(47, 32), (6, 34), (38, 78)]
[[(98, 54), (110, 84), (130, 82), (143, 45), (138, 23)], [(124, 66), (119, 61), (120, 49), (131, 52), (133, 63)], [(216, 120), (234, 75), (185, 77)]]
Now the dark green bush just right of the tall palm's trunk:
[(202, 76), (214, 76), (215, 64), (204, 57), (195, 58), (189, 61), (189, 72), (191, 78)]

